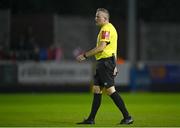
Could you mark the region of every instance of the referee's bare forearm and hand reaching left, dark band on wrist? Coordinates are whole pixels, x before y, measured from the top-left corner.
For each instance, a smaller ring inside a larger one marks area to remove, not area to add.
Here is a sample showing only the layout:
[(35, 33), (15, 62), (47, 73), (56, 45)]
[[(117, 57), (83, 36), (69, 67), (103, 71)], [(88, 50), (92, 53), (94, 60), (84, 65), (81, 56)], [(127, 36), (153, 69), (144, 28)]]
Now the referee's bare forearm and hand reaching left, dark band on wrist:
[(101, 42), (101, 44), (81, 55), (79, 55), (76, 59), (81, 62), (83, 60), (85, 60), (87, 57), (96, 55), (99, 52), (102, 52), (104, 50), (104, 48), (106, 47), (107, 43), (106, 42)]

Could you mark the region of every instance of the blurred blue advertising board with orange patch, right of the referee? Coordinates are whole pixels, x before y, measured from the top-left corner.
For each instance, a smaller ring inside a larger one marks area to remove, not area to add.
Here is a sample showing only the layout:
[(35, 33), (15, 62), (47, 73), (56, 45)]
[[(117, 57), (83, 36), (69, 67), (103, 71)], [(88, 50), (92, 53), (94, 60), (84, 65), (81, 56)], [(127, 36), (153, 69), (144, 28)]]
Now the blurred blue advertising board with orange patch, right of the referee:
[(180, 63), (138, 62), (130, 70), (132, 91), (180, 91)]

